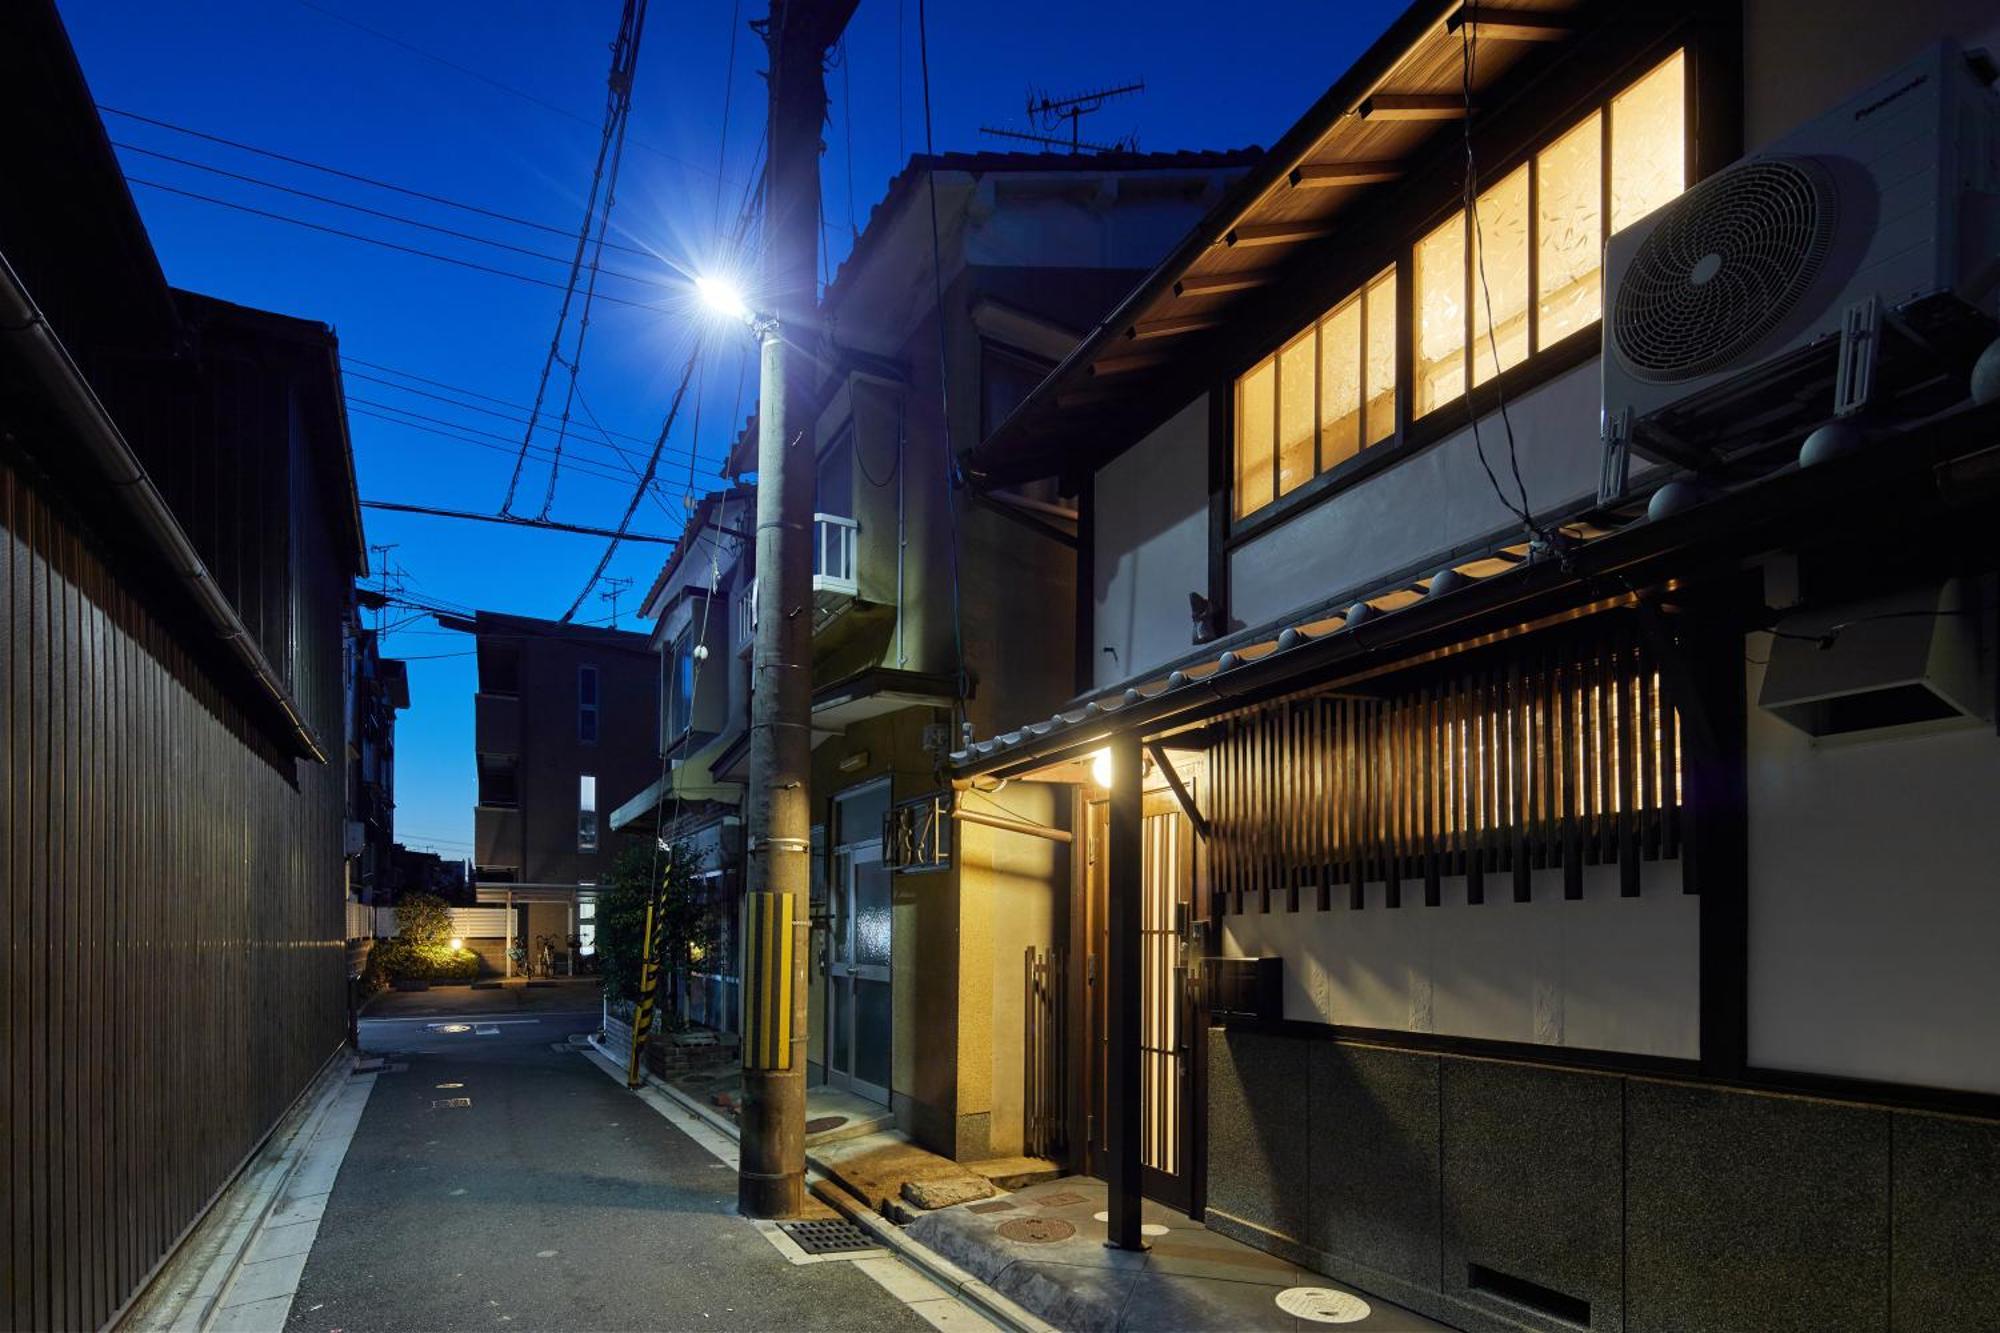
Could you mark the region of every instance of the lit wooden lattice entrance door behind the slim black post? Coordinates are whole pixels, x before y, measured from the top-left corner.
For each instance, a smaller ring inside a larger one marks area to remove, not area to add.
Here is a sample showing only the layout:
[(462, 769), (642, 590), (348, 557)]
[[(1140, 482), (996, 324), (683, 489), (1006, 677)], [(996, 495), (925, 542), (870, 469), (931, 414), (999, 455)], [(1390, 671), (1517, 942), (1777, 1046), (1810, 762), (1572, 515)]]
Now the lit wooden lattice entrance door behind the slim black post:
[[(1090, 1015), (1088, 1169), (1102, 1171), (1110, 1151), (1112, 1109), (1106, 1097), (1106, 997), (1110, 959), (1106, 859), (1110, 803), (1090, 805), (1084, 917), (1088, 957), (1084, 985)], [(1144, 799), (1140, 833), (1140, 1189), (1180, 1211), (1192, 1211), (1196, 1145), (1196, 1079), (1192, 1063), (1194, 987), (1184, 941), (1194, 901), (1194, 829), (1166, 793)]]

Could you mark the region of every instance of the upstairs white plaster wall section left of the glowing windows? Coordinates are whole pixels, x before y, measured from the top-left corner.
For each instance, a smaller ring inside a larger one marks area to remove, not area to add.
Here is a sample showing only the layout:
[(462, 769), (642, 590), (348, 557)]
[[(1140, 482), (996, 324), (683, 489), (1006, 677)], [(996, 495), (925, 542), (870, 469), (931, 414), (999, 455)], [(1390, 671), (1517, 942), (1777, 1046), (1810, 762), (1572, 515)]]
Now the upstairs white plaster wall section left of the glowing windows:
[(1098, 472), (1094, 522), (1102, 687), (1194, 646), (1188, 592), (1208, 590), (1208, 394)]

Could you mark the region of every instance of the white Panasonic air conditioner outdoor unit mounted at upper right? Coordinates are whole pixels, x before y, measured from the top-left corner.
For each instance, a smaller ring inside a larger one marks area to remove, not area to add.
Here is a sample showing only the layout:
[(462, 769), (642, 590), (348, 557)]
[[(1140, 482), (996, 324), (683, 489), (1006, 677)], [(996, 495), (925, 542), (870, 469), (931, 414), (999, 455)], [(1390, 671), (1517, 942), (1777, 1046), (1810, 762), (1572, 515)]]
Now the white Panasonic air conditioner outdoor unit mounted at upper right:
[(1612, 236), (1604, 276), (1606, 500), (1626, 450), (1708, 466), (1940, 380), (1996, 328), (2000, 96), (1940, 42)]

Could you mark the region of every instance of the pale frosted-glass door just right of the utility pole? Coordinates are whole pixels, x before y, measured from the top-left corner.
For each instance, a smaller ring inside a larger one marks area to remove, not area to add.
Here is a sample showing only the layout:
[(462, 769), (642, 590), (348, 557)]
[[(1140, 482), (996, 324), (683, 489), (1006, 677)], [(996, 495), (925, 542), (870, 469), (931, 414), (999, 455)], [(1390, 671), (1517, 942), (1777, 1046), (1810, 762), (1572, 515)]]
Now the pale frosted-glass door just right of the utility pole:
[(882, 865), (886, 807), (888, 783), (834, 801), (834, 837), (842, 841), (834, 845), (826, 895), (826, 1081), (882, 1105), (888, 1105), (894, 1043), (890, 883)]

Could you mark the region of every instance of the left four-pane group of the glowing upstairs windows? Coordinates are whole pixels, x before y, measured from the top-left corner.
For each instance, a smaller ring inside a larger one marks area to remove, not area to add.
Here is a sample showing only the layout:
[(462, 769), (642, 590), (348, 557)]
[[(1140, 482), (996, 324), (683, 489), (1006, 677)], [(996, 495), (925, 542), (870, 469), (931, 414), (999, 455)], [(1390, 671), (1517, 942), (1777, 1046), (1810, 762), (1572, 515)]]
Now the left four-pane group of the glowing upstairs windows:
[(1236, 380), (1236, 516), (1396, 432), (1396, 270)]

